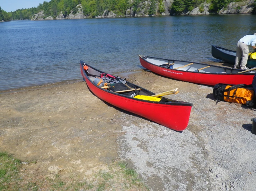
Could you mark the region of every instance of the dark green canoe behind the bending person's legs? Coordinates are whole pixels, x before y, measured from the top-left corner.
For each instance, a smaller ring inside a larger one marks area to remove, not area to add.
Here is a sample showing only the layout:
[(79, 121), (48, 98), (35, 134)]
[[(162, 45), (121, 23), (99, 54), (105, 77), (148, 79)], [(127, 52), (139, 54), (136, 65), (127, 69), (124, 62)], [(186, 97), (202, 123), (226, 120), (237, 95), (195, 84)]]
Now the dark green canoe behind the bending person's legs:
[[(236, 51), (228, 50), (225, 48), (217, 47), (212, 45), (212, 56), (219, 60), (223, 60), (230, 64), (235, 64), (236, 60)], [(248, 58), (246, 67), (253, 68), (256, 67), (256, 59)]]

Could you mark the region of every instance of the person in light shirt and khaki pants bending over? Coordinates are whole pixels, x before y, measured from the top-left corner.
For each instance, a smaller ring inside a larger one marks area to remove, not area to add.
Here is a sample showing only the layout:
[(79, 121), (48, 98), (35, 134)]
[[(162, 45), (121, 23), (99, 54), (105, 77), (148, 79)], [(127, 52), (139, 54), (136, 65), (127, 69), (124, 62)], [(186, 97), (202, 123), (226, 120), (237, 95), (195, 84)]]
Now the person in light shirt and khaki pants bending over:
[(238, 41), (234, 68), (238, 67), (238, 64), (242, 57), (240, 69), (242, 69), (242, 70), (249, 69), (246, 67), (247, 60), (248, 60), (248, 54), (249, 54), (248, 45), (251, 45), (253, 47), (253, 49), (255, 50), (256, 49), (255, 44), (256, 44), (256, 33), (254, 33), (253, 35), (248, 34)]

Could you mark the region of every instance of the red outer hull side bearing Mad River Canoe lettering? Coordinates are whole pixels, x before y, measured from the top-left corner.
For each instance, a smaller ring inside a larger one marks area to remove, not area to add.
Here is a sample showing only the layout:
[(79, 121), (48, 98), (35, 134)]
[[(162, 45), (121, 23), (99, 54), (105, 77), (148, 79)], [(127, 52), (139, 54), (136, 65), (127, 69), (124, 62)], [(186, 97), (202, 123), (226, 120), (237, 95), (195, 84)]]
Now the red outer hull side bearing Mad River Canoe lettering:
[(216, 73), (200, 73), (200, 72), (188, 72), (180, 71), (175, 69), (164, 68), (152, 64), (143, 58), (140, 58), (141, 65), (157, 74), (166, 76), (168, 78), (173, 78), (176, 80), (199, 83), (214, 86), (217, 83), (226, 83), (226, 84), (251, 84), (253, 81), (254, 74), (216, 74)]

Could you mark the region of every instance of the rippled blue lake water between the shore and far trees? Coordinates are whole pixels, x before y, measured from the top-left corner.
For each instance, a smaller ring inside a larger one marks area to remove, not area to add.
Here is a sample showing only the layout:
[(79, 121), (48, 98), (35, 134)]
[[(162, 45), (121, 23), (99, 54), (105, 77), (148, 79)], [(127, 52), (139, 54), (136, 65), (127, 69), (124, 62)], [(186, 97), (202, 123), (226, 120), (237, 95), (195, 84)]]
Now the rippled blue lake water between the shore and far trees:
[[(0, 90), (81, 79), (80, 60), (108, 73), (141, 69), (138, 54), (217, 61), (211, 44), (236, 50), (256, 16), (208, 15), (0, 23)], [(252, 50), (252, 49), (251, 49)]]

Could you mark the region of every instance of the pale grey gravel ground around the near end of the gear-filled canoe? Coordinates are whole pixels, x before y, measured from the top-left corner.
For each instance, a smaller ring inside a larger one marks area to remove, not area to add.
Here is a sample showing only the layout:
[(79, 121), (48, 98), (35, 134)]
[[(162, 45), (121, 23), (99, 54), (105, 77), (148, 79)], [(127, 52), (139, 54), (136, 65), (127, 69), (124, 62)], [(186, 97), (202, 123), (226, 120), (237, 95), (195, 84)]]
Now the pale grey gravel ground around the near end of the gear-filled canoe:
[(134, 125), (138, 117), (132, 116), (123, 125), (127, 133), (118, 139), (121, 158), (151, 190), (256, 190), (255, 110), (216, 104), (213, 87), (159, 77), (156, 83), (180, 89), (170, 98), (193, 103), (189, 125), (176, 132), (154, 122)]

